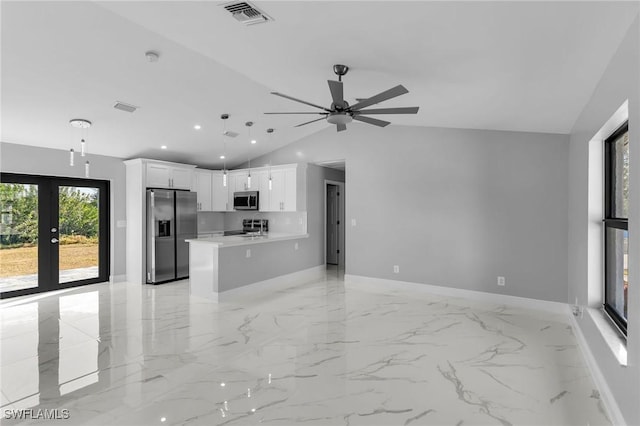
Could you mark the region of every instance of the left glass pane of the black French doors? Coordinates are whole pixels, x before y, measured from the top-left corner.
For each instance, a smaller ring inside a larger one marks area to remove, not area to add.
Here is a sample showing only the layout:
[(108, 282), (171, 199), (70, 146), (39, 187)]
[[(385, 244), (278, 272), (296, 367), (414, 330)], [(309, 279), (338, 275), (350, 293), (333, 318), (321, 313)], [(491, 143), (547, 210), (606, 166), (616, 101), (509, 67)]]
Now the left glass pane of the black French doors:
[(0, 292), (38, 287), (38, 185), (0, 183)]

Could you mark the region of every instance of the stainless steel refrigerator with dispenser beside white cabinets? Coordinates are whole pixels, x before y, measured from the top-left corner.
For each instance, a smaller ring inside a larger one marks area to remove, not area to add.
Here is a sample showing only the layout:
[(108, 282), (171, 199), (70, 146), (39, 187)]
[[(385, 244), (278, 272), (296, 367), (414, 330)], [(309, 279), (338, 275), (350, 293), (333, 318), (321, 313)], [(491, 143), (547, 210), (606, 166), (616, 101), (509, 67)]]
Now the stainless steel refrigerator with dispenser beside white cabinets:
[(196, 193), (147, 190), (147, 283), (189, 277), (189, 238), (197, 238)]

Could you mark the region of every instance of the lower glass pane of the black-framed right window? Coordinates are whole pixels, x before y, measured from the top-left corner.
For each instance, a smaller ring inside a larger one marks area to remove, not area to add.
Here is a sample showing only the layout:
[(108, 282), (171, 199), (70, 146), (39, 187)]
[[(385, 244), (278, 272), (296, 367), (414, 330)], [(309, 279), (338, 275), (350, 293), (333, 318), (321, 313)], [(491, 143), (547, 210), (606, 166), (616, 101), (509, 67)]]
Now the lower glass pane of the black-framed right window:
[(627, 319), (629, 231), (607, 228), (606, 304)]

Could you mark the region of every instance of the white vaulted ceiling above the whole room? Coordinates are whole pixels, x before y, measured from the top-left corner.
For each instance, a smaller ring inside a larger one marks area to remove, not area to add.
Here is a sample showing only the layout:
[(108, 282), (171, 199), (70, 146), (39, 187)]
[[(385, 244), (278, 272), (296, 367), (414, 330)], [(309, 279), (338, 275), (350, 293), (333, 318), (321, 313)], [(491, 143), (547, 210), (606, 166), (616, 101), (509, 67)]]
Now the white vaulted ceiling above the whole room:
[(229, 113), (233, 166), (328, 126), (263, 112), (313, 110), (270, 91), (328, 106), (336, 63), (351, 67), (351, 103), (409, 89), (381, 104), (420, 106), (380, 117), (394, 124), (568, 133), (638, 13), (637, 2), (260, 1), (275, 21), (246, 27), (222, 3), (2, 1), (2, 141), (78, 149), (79, 117), (94, 122), (90, 152), (220, 167)]

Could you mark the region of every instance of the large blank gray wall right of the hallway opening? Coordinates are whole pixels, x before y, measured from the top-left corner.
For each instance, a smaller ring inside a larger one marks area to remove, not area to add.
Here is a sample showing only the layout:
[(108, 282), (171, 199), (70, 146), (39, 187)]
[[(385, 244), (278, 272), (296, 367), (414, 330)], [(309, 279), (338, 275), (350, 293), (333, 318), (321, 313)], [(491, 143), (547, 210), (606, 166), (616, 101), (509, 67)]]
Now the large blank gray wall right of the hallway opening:
[(270, 158), (346, 160), (347, 274), (566, 302), (568, 146), (566, 135), (358, 123)]

